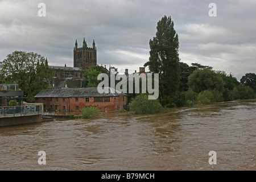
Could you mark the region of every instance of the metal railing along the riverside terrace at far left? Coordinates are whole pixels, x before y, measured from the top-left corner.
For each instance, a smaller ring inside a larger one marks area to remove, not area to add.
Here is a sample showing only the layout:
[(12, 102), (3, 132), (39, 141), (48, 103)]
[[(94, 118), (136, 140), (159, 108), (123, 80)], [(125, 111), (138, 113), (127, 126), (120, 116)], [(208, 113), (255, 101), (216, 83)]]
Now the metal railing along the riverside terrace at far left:
[(43, 111), (41, 104), (30, 104), (23, 106), (2, 106), (0, 107), (0, 114), (23, 114), (23, 113), (37, 113)]

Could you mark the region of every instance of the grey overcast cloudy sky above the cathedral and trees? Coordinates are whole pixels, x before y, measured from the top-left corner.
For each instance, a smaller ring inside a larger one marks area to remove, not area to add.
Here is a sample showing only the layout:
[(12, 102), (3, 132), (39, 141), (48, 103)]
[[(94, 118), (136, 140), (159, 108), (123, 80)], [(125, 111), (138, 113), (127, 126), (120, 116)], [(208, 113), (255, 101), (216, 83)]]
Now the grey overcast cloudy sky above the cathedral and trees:
[[(46, 16), (38, 16), (39, 3)], [(209, 16), (210, 3), (216, 15)], [(77, 39), (93, 39), (97, 63), (123, 73), (148, 60), (156, 24), (171, 16), (179, 35), (180, 61), (232, 73), (238, 80), (256, 73), (255, 0), (0, 0), (0, 60), (13, 51), (38, 52), (49, 65), (73, 66)]]

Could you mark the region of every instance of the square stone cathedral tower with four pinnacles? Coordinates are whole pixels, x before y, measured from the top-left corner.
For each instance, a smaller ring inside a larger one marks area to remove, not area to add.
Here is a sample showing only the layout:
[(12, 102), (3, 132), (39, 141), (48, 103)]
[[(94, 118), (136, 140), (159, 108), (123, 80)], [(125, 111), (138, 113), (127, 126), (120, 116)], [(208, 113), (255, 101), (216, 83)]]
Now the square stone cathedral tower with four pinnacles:
[(77, 40), (74, 47), (74, 67), (89, 69), (90, 66), (97, 65), (97, 49), (93, 39), (93, 47), (87, 47), (87, 43), (84, 38), (82, 47), (77, 48)]

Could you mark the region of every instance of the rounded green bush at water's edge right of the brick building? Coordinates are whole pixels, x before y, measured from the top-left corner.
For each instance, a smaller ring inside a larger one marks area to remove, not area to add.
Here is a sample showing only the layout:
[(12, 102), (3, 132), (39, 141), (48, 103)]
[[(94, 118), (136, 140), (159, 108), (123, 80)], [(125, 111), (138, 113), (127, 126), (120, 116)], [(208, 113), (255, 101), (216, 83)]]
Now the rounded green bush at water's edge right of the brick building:
[(147, 94), (139, 94), (129, 104), (130, 111), (135, 114), (161, 113), (163, 106), (158, 100), (148, 100)]

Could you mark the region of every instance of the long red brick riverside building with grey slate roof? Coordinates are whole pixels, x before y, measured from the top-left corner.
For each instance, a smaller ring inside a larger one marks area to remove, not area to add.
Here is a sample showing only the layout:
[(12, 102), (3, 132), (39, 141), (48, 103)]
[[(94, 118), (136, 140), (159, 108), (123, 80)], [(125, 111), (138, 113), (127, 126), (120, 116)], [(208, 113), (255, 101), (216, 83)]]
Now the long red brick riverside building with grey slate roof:
[(47, 111), (81, 111), (86, 106), (101, 112), (125, 109), (127, 95), (111, 90), (114, 92), (100, 94), (97, 88), (46, 89), (35, 96), (35, 102), (43, 103)]

